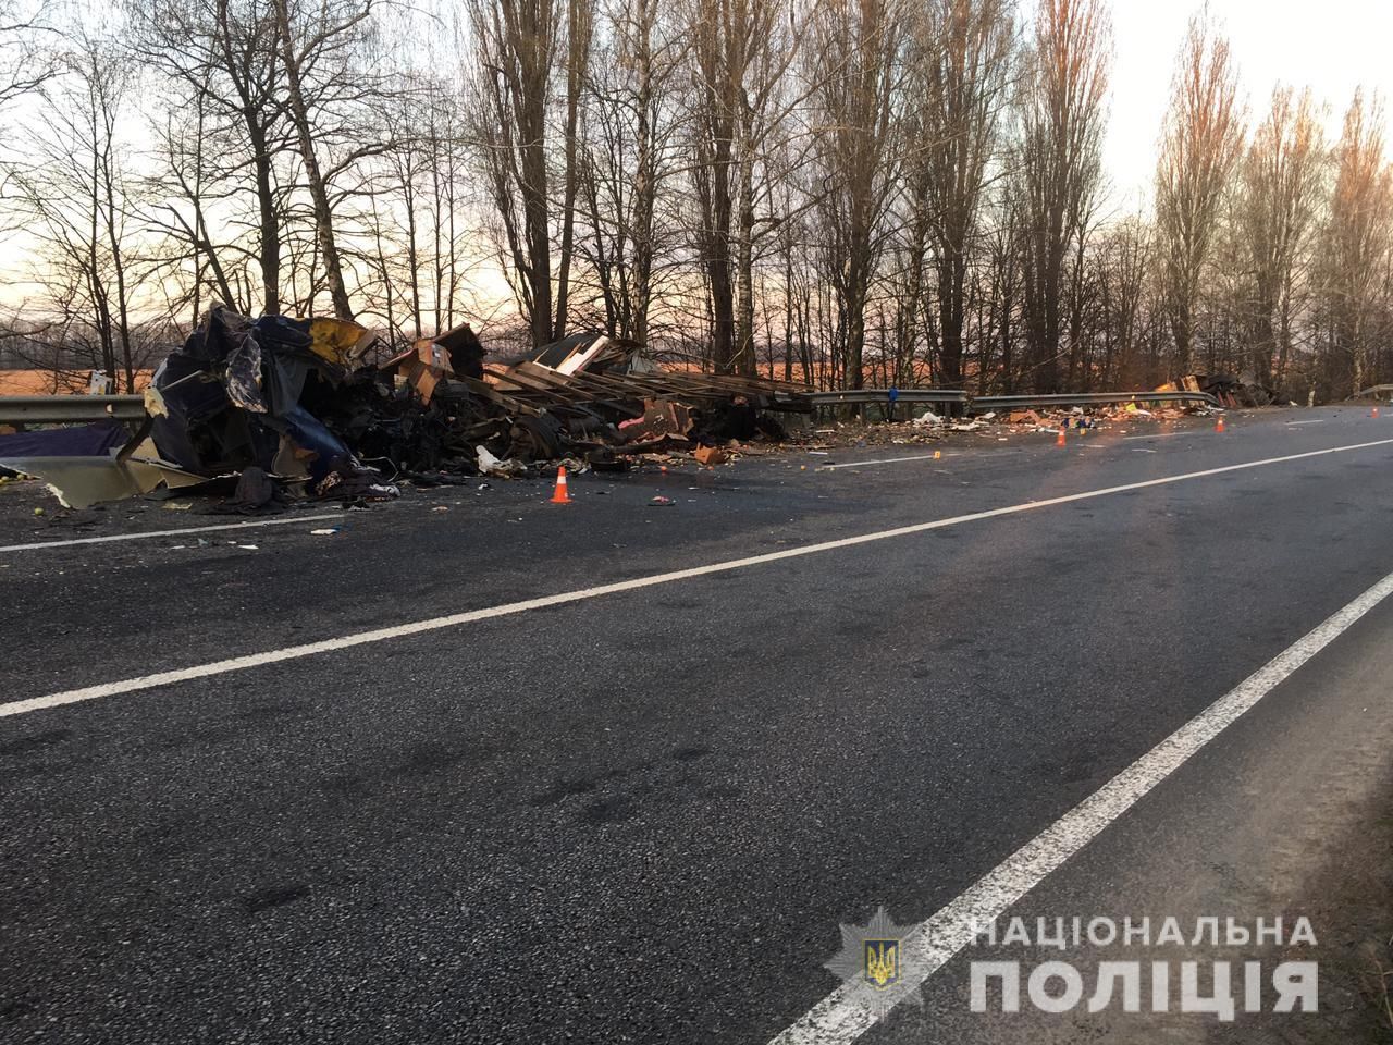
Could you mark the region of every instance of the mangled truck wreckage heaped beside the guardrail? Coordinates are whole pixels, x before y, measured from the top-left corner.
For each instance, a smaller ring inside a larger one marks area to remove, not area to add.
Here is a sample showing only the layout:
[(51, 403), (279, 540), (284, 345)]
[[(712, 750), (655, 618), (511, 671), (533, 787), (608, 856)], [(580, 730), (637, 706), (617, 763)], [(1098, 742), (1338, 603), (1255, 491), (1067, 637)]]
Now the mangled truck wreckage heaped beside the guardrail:
[(800, 385), (667, 371), (595, 333), (496, 369), (468, 325), (372, 365), (376, 340), (350, 320), (215, 307), (155, 372), (134, 433), (111, 419), (4, 436), (0, 467), (68, 507), (235, 482), (233, 504), (256, 510), (287, 490), (355, 502), (566, 461), (624, 471), (659, 449), (780, 439), (766, 411), (811, 410)]

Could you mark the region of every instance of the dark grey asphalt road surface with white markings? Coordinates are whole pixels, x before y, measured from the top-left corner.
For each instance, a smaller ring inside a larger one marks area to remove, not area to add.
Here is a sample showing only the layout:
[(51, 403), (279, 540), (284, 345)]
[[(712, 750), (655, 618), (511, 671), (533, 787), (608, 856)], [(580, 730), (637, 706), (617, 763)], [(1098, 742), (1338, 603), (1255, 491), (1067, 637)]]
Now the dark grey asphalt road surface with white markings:
[[(1393, 417), (943, 451), (0, 552), (0, 1041), (768, 1042), (839, 922), (935, 914), (1393, 571)], [(1305, 914), (1319, 1013), (978, 1014), (964, 952), (864, 1039), (1393, 1038), (1390, 640), (1380, 605), (1015, 908)]]

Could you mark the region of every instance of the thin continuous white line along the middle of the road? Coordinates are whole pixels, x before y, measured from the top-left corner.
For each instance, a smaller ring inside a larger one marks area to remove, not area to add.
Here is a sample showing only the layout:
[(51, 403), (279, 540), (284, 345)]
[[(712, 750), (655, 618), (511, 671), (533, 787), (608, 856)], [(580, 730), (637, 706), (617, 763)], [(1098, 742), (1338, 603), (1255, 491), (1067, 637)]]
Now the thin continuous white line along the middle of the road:
[(269, 649), (263, 653), (248, 653), (245, 656), (233, 656), (226, 660), (213, 660), (212, 663), (194, 665), (191, 667), (180, 667), (170, 672), (157, 672), (156, 674), (142, 674), (134, 679), (121, 679), (114, 683), (84, 686), (79, 690), (64, 690), (63, 692), (53, 692), (49, 694), (47, 697), (31, 697), (28, 699), (11, 701), (8, 704), (0, 704), (0, 718), (8, 715), (26, 715), (28, 712), (33, 711), (43, 711), (46, 708), (60, 708), (65, 704), (78, 704), (79, 701), (92, 701), (100, 697), (116, 697), (123, 692), (135, 692), (138, 690), (153, 690), (157, 686), (185, 683), (194, 679), (208, 679), (215, 674), (227, 674), (228, 672), (241, 672), (249, 667), (260, 667), (263, 665), (280, 663), (283, 660), (295, 660), (302, 656), (315, 656), (316, 653), (330, 653), (338, 649), (350, 649), (352, 647), (368, 645), (369, 642), (386, 642), (389, 640), (403, 638), (407, 635), (419, 635), (428, 631), (439, 631), (440, 628), (450, 628), (450, 627), (457, 627), (460, 624), (469, 624), (476, 620), (507, 617), (514, 613), (525, 613), (527, 610), (543, 609), (546, 606), (560, 606), (568, 602), (582, 602), (585, 599), (596, 599), (602, 595), (614, 595), (617, 592), (638, 591), (641, 588), (652, 588), (659, 584), (673, 584), (676, 581), (687, 581), (694, 577), (705, 577), (713, 573), (744, 570), (751, 566), (777, 563), (784, 559), (800, 559), (808, 555), (834, 552), (841, 548), (855, 548), (857, 545), (868, 545), (876, 541), (889, 541), (897, 536), (924, 534), (931, 529), (957, 527), (963, 525), (964, 522), (979, 522), (988, 518), (1015, 516), (1022, 511), (1036, 511), (1039, 509), (1048, 509), (1056, 504), (1071, 504), (1080, 500), (1092, 500), (1094, 497), (1107, 497), (1114, 493), (1144, 490), (1152, 486), (1166, 486), (1174, 482), (1202, 479), (1209, 475), (1224, 475), (1227, 472), (1245, 471), (1248, 468), (1265, 468), (1273, 464), (1284, 464), (1287, 461), (1304, 461), (1304, 460), (1311, 460), (1314, 457), (1326, 457), (1329, 454), (1350, 453), (1353, 450), (1367, 450), (1375, 446), (1389, 446), (1390, 443), (1393, 443), (1393, 439), (1378, 439), (1371, 443), (1353, 443), (1350, 446), (1336, 446), (1328, 450), (1309, 450), (1307, 453), (1286, 454), (1283, 457), (1266, 457), (1259, 461), (1244, 461), (1243, 464), (1226, 464), (1219, 468), (1205, 468), (1204, 471), (1197, 471), (1197, 472), (1167, 475), (1160, 479), (1142, 479), (1141, 482), (1126, 482), (1120, 486), (1103, 486), (1102, 489), (1084, 490), (1082, 493), (1067, 493), (1061, 497), (1028, 500), (1024, 504), (1010, 504), (1007, 507), (1000, 507), (1000, 509), (988, 509), (986, 511), (972, 511), (965, 516), (936, 518), (929, 522), (915, 522), (908, 527), (896, 527), (894, 529), (880, 529), (873, 534), (861, 534), (859, 536), (846, 536), (846, 538), (839, 538), (837, 541), (822, 541), (815, 545), (804, 545), (801, 548), (787, 548), (779, 552), (766, 552), (763, 555), (747, 556), (744, 559), (727, 559), (726, 562), (722, 563), (710, 563), (708, 566), (694, 566), (687, 570), (671, 570), (667, 573), (656, 573), (656, 574), (649, 574), (648, 577), (635, 577), (634, 580), (628, 581), (614, 581), (613, 584), (600, 584), (593, 588), (579, 588), (577, 591), (560, 592), (557, 595), (542, 595), (535, 599), (524, 599), (521, 602), (507, 602), (500, 606), (488, 606), (485, 609), (467, 610), (464, 613), (451, 613), (444, 617), (430, 617), (428, 620), (417, 620), (408, 624), (394, 624), (391, 627), (373, 628), (372, 631), (358, 631), (351, 635), (340, 635), (338, 638), (320, 640), (319, 642), (305, 642), (302, 645), (284, 647), (281, 649)]

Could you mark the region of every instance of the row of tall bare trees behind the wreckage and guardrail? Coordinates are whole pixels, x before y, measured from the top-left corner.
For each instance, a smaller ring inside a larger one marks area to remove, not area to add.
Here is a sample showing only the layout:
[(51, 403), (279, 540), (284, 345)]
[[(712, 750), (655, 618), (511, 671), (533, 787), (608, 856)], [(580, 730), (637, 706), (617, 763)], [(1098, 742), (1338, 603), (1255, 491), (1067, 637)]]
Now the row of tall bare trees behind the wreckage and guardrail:
[(1393, 379), (1378, 99), (1254, 113), (1202, 14), (1121, 213), (1106, 0), (28, 1), (0, 350), (35, 362), (130, 386), (224, 301), (820, 385)]

